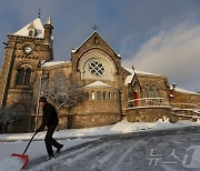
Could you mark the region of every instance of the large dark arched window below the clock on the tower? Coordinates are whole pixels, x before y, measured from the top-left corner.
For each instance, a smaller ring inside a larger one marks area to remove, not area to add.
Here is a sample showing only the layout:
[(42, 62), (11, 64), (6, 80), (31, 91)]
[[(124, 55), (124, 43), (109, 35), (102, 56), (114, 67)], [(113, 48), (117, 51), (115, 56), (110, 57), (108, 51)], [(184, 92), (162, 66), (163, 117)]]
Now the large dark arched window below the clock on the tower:
[(16, 84), (17, 86), (29, 86), (31, 72), (32, 72), (31, 68), (29, 68), (27, 66), (20, 67), (18, 69)]

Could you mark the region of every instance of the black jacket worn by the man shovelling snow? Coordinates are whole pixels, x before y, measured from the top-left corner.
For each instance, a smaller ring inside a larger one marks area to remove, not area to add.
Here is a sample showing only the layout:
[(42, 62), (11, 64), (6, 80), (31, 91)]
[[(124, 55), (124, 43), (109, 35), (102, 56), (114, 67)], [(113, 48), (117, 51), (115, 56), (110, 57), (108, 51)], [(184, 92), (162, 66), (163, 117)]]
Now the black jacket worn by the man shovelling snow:
[(49, 127), (57, 127), (59, 124), (58, 113), (52, 104), (46, 103), (42, 110), (43, 110), (42, 123), (39, 127), (38, 132), (43, 130), (46, 125), (49, 128)]

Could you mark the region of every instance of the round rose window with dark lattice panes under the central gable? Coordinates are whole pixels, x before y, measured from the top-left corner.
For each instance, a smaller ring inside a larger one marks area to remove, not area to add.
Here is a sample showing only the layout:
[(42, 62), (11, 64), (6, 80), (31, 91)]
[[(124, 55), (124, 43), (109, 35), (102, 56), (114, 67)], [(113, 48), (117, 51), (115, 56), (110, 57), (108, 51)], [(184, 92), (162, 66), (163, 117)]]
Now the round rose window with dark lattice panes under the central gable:
[(99, 61), (91, 61), (88, 63), (88, 69), (91, 74), (96, 77), (101, 77), (104, 73), (104, 67), (101, 62)]

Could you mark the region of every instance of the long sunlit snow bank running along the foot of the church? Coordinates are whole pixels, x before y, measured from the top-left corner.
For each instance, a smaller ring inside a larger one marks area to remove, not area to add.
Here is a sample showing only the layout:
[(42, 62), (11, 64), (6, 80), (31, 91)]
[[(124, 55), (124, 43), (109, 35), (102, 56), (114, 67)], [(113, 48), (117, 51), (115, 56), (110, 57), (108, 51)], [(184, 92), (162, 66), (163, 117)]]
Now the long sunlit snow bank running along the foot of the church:
[[(112, 125), (60, 130), (60, 131), (56, 131), (53, 137), (57, 139), (98, 137), (98, 135), (129, 133), (129, 132), (144, 131), (144, 130), (148, 131), (148, 130), (182, 128), (182, 127), (199, 125), (199, 124), (200, 121), (197, 122), (178, 121), (177, 123), (170, 123), (169, 119), (166, 118), (160, 119), (157, 122), (129, 122), (127, 120), (122, 120), (121, 122), (118, 122)], [(30, 140), (32, 134), (33, 132), (0, 134), (0, 141)], [(46, 137), (46, 131), (38, 133), (34, 140), (43, 140), (44, 137)]]

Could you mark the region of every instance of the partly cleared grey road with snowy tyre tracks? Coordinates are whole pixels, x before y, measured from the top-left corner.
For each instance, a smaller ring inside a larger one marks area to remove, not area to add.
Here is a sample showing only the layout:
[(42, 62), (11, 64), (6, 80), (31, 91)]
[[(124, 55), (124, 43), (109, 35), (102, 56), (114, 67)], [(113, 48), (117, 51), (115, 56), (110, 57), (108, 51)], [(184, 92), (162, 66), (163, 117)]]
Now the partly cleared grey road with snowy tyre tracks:
[(54, 160), (30, 161), (41, 171), (199, 171), (200, 128), (101, 137), (66, 151)]

